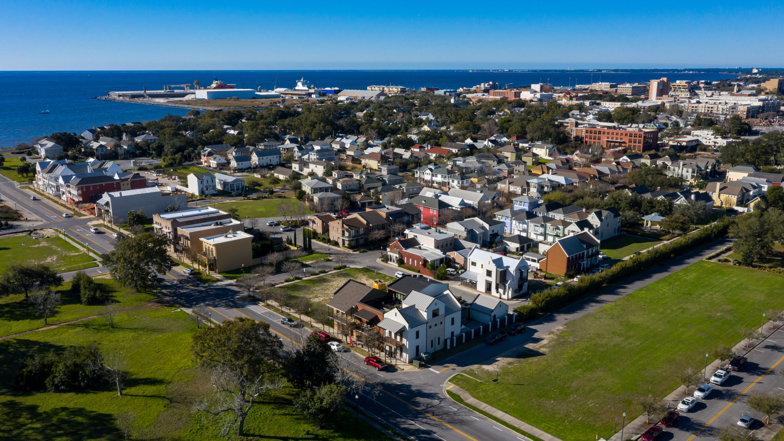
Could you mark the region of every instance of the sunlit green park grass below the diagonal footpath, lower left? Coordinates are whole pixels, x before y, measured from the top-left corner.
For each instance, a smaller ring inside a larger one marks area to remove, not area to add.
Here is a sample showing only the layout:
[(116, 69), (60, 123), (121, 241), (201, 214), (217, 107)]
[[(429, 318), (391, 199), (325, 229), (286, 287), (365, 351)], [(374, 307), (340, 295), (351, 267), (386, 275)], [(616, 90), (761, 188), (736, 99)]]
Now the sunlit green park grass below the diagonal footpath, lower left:
[[(118, 316), (110, 329), (103, 319), (63, 326), (0, 342), (0, 434), (4, 439), (53, 441), (122, 439), (114, 422), (120, 411), (136, 414), (132, 439), (219, 440), (215, 425), (191, 412), (194, 399), (212, 388), (194, 368), (191, 334), (195, 325), (177, 308), (141, 308)], [(61, 352), (69, 345), (97, 344), (103, 352), (129, 359), (124, 395), (110, 386), (76, 393), (9, 390), (20, 360), (38, 352)], [(292, 409), (292, 388), (266, 395), (245, 421), (252, 439), (354, 441), (386, 439), (346, 410), (331, 427), (317, 431)]]

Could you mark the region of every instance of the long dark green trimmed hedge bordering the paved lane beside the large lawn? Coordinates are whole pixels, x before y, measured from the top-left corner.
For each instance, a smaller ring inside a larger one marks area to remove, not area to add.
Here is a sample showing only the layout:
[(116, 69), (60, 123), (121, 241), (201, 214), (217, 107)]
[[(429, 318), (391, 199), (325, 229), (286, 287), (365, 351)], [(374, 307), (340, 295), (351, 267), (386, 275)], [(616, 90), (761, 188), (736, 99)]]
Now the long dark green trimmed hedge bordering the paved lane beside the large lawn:
[(659, 246), (645, 253), (637, 254), (628, 261), (621, 261), (614, 267), (594, 275), (583, 276), (576, 283), (567, 283), (555, 290), (546, 290), (531, 296), (531, 304), (524, 304), (514, 310), (523, 321), (535, 318), (539, 314), (557, 311), (568, 304), (587, 297), (602, 286), (618, 281), (637, 272), (653, 268), (664, 261), (705, 245), (717, 237), (727, 234), (734, 221), (726, 218), (715, 224), (702, 228), (694, 234), (686, 235), (666, 245)]

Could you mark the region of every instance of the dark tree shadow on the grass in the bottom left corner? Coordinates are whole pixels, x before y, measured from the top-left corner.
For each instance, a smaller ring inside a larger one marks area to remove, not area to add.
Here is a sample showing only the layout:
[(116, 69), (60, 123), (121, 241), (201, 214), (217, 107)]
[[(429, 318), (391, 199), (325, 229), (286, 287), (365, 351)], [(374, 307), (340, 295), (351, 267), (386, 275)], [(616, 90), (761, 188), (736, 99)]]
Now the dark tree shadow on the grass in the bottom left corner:
[(0, 439), (119, 438), (114, 415), (82, 407), (40, 410), (15, 399), (0, 401)]

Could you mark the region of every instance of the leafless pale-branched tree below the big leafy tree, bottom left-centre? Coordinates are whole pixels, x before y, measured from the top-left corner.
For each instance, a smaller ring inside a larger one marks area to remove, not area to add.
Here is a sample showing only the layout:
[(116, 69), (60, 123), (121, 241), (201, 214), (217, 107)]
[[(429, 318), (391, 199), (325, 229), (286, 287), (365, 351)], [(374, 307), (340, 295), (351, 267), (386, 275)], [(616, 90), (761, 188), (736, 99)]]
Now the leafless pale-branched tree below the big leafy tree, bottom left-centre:
[(237, 428), (238, 436), (242, 436), (245, 418), (262, 395), (280, 390), (285, 381), (275, 379), (265, 381), (262, 375), (245, 377), (241, 372), (234, 372), (225, 366), (212, 371), (210, 379), (214, 395), (199, 399), (194, 403), (195, 410), (205, 412), (213, 417), (223, 418), (221, 436), (227, 436), (232, 428)]

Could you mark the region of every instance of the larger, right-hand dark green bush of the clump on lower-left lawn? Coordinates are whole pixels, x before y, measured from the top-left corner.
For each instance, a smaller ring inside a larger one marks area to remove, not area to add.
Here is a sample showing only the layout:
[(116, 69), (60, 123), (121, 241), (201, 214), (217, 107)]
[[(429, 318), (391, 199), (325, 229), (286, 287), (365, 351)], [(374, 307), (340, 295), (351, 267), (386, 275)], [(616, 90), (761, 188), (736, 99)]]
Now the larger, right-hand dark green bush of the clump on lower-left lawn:
[(103, 355), (97, 346), (71, 346), (58, 357), (46, 378), (49, 392), (97, 388), (107, 383)]

